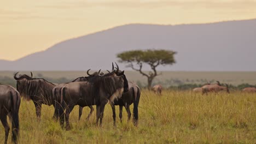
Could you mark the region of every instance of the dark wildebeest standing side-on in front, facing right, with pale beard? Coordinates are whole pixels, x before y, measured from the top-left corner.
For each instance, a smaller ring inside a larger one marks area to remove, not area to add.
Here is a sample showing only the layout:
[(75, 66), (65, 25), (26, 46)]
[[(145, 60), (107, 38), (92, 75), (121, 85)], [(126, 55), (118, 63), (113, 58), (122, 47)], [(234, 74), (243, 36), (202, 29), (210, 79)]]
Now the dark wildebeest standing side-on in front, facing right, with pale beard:
[[(129, 90), (128, 88), (124, 71), (116, 74), (115, 70), (109, 74), (94, 76), (90, 81), (67, 83), (61, 89), (61, 106), (63, 108), (60, 109), (61, 126), (63, 127), (65, 117), (66, 129), (70, 129), (69, 113), (75, 105), (82, 107), (96, 105), (96, 124), (98, 125), (100, 119), (101, 126), (105, 105), (108, 101), (112, 102), (115, 98), (121, 97), (123, 92)], [(64, 110), (66, 110), (65, 113)]]

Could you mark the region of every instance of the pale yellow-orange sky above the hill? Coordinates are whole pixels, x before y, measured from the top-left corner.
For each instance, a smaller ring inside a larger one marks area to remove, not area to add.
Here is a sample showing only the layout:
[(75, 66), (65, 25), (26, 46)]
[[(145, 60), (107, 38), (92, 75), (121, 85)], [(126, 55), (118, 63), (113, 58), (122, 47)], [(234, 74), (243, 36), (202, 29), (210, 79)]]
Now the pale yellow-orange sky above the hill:
[(0, 0), (0, 59), (129, 23), (178, 25), (256, 18), (256, 0)]

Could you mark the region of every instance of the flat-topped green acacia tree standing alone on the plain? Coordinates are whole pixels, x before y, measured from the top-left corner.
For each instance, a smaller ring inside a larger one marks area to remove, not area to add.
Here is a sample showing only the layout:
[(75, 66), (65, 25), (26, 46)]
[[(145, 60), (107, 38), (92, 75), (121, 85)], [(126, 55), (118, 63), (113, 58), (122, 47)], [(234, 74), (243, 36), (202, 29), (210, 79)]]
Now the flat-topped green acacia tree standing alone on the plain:
[[(148, 88), (150, 88), (153, 79), (159, 75), (156, 67), (175, 63), (174, 54), (176, 52), (170, 50), (133, 50), (119, 53), (117, 57), (119, 62), (128, 63), (127, 67), (131, 67), (146, 76), (148, 78)], [(142, 71), (143, 64), (148, 64), (152, 70), (148, 73)]]

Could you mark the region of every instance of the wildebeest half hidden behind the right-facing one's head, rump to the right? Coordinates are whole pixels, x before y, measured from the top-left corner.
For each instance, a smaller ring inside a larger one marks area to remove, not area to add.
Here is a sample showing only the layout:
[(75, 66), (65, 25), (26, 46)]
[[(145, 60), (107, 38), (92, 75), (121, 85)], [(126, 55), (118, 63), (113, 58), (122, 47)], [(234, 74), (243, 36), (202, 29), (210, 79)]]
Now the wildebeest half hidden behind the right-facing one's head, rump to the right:
[[(116, 63), (117, 65), (117, 63)], [(117, 69), (118, 65), (117, 65)], [(114, 66), (112, 63), (112, 71), (114, 70)], [(110, 73), (110, 72), (109, 72)], [(121, 71), (119, 70), (119, 73), (121, 73)], [(138, 124), (138, 104), (139, 104), (139, 98), (141, 97), (141, 90), (139, 89), (139, 87), (133, 83), (133, 82), (128, 82), (129, 85), (129, 91), (125, 92), (121, 95), (121, 98), (119, 99), (115, 99), (113, 101), (113, 103), (110, 103), (111, 107), (112, 107), (112, 112), (113, 112), (113, 121), (114, 121), (114, 125), (115, 125), (115, 105), (119, 105), (119, 118), (120, 118), (120, 122), (122, 122), (122, 117), (123, 117), (123, 106), (125, 106), (125, 110), (127, 112), (127, 118), (128, 121), (131, 118), (131, 111), (130, 111), (130, 105), (133, 103), (133, 124), (135, 124), (137, 126)], [(81, 107), (81, 109), (83, 109), (83, 107)], [(79, 119), (82, 115), (82, 112), (79, 112)]]

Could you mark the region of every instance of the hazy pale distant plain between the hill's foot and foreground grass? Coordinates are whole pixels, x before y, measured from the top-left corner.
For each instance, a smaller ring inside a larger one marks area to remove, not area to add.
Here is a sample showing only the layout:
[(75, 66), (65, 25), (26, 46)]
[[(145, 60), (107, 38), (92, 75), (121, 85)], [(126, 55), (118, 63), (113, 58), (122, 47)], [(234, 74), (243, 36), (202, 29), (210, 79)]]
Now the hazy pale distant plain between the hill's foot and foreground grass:
[[(15, 80), (13, 75), (16, 71), (0, 71), (0, 83), (14, 85)], [(94, 71), (92, 70), (91, 73)], [(256, 85), (256, 71), (238, 72), (238, 71), (159, 71), (161, 75), (155, 77), (153, 84), (161, 83), (164, 87), (177, 86), (185, 83), (203, 84), (207, 81), (215, 82), (216, 80), (222, 83), (231, 85), (240, 85), (241, 83), (249, 83)], [(22, 71), (21, 74), (30, 75), (30, 71)], [(87, 76), (86, 71), (33, 71), (34, 77), (44, 77), (46, 80), (58, 83), (69, 82), (80, 76)], [(129, 81), (136, 82), (139, 86), (147, 86), (147, 78), (142, 76), (137, 71), (125, 71)], [(9, 79), (4, 79), (9, 77)], [(60, 79), (53, 81), (52, 79)], [(10, 83), (8, 83), (11, 81)]]

